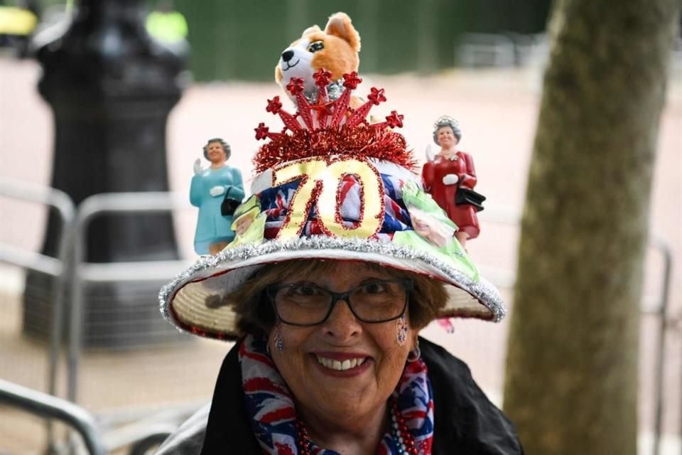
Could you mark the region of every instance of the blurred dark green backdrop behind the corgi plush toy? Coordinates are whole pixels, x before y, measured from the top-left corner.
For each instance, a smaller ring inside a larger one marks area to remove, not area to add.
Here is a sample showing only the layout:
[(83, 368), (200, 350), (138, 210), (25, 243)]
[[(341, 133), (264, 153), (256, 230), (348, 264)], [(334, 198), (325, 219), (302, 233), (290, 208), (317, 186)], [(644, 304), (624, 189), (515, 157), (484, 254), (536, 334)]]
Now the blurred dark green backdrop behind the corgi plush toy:
[(195, 80), (272, 80), (281, 51), (308, 26), (324, 27), (337, 11), (349, 14), (360, 33), (364, 73), (420, 70), (421, 53), (432, 55), (427, 60), (433, 69), (448, 68), (455, 64), (461, 33), (538, 33), (548, 5), (549, 0), (175, 1), (189, 23)]

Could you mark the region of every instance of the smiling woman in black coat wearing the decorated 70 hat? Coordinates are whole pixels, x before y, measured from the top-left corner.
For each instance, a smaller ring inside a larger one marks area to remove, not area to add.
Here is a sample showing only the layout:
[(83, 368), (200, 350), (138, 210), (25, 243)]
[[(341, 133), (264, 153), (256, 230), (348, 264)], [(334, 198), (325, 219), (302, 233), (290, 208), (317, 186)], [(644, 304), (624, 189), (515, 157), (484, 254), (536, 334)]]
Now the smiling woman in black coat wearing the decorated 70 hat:
[[(159, 454), (522, 453), (467, 366), (419, 336), (437, 318), (502, 319), (499, 294), (459, 245), (444, 250), (416, 232), (408, 205), (437, 211), (434, 223), (445, 215), (386, 122), (340, 127), (333, 112), (348, 101), (320, 100), (331, 122), (316, 109), (318, 124), (289, 123), (290, 134), (272, 134), (256, 155), (247, 211), (257, 202), (261, 235), (162, 289), (175, 326), (236, 343), (210, 411)], [(352, 149), (344, 134), (381, 140), (354, 139)], [(302, 135), (328, 149), (311, 155)]]

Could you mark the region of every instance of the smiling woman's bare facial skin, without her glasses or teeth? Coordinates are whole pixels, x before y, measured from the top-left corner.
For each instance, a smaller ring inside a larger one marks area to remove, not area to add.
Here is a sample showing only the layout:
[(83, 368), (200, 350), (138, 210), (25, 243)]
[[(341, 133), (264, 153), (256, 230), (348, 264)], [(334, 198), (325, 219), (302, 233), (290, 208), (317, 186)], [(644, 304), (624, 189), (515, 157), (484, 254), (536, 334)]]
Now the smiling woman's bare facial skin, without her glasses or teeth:
[[(339, 262), (332, 273), (291, 277), (283, 284), (303, 281), (343, 292), (372, 279), (392, 278), (361, 262)], [(416, 332), (409, 330), (406, 343), (399, 346), (397, 321), (363, 323), (355, 319), (345, 301), (337, 301), (327, 321), (317, 326), (281, 323), (282, 352), (274, 342), (275, 327), (269, 337), (270, 351), (303, 412), (332, 417), (383, 410), (416, 339)], [(362, 359), (362, 363), (346, 370), (323, 365), (335, 360), (350, 360), (352, 365), (357, 363), (354, 359)]]

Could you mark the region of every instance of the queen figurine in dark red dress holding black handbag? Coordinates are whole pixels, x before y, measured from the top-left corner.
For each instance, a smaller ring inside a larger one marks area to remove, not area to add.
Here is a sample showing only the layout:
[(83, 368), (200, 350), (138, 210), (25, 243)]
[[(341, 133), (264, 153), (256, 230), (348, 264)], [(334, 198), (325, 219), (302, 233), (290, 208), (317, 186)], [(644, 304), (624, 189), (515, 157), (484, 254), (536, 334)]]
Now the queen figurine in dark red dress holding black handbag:
[(462, 247), (468, 239), (478, 237), (477, 211), (482, 210), (485, 197), (473, 191), (476, 186), (474, 160), (470, 154), (458, 151), (462, 139), (458, 122), (452, 117), (439, 117), (433, 125), (433, 141), (440, 152), (428, 156), (422, 169), (424, 191), (430, 193), (448, 218), (458, 226), (455, 237)]

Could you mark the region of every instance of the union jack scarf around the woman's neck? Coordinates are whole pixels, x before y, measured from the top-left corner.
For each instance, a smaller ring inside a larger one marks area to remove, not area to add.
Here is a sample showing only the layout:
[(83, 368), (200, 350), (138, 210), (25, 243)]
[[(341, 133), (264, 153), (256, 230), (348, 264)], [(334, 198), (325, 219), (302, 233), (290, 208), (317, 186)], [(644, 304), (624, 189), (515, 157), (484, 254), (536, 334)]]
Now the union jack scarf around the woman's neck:
[[(265, 341), (253, 336), (239, 346), (242, 365), (242, 388), (247, 414), (264, 453), (298, 455), (296, 445), (296, 409), (291, 392), (266, 351)], [(433, 441), (433, 390), (426, 363), (421, 358), (406, 363), (403, 375), (393, 392), (406, 426), (412, 433), (420, 455), (431, 454)], [(338, 455), (313, 444), (313, 455)], [(395, 455), (398, 449), (386, 432), (377, 447), (378, 455)]]

